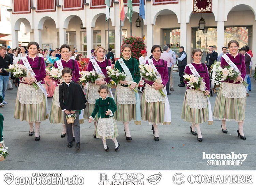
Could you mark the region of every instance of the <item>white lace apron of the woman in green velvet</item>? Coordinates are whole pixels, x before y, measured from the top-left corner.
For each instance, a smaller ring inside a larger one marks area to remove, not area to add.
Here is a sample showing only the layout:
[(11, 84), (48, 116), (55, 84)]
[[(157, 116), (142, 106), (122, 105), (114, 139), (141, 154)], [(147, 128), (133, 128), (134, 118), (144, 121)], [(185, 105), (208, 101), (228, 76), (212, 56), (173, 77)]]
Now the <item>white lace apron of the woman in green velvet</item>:
[(117, 102), (119, 104), (135, 104), (136, 97), (135, 92), (131, 90), (129, 87), (123, 87), (120, 84), (117, 85)]

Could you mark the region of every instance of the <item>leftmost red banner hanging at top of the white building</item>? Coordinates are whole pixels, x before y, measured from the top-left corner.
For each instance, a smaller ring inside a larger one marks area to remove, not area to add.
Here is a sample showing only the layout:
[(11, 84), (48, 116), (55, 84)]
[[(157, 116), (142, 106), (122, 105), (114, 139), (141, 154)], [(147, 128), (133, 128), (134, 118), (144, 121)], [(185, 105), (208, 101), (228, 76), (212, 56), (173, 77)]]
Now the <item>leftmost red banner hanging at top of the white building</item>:
[(13, 14), (31, 13), (30, 0), (13, 0)]

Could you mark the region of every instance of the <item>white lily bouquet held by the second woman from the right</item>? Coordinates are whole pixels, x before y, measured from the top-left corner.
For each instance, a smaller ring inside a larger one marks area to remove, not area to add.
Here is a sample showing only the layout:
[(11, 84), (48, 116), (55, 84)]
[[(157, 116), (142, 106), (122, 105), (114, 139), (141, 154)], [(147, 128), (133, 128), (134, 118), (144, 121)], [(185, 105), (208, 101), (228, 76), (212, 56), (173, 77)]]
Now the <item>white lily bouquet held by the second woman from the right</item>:
[[(205, 82), (203, 81), (202, 77), (197, 77), (189, 74), (185, 74), (183, 75), (184, 81), (187, 81), (187, 87), (189, 87), (190, 89), (195, 89), (195, 90), (201, 90), (203, 93), (205, 92), (206, 86), (205, 86)], [(207, 95), (207, 97), (210, 97), (210, 95)]]

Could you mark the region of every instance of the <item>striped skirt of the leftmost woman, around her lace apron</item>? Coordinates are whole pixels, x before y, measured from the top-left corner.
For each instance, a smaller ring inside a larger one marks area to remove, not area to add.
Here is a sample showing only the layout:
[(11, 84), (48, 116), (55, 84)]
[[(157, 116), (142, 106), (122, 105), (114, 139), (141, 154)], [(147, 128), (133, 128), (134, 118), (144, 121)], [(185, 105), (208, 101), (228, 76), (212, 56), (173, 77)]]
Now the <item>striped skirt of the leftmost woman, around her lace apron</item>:
[[(27, 122), (41, 122), (43, 120), (47, 119), (47, 111), (46, 111), (46, 100), (44, 94), (42, 95), (43, 100), (40, 104), (24, 104), (19, 102), (19, 95), (21, 94), (21, 90), (23, 87), (30, 86), (33, 87), (32, 85), (24, 85), (23, 83), (20, 83), (18, 92), (17, 92), (17, 97), (16, 97), (16, 102), (15, 102), (15, 109), (14, 109), (14, 118), (15, 119), (20, 119), (20, 121), (27, 121)], [(36, 95), (36, 90), (34, 89)]]

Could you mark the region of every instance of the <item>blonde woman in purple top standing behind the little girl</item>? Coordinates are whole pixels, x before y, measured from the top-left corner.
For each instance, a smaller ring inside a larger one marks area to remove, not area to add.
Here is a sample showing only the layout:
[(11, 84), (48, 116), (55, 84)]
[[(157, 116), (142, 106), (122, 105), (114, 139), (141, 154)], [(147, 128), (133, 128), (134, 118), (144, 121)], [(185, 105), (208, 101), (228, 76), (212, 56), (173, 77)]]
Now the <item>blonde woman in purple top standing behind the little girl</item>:
[[(97, 46), (94, 50), (95, 58), (92, 58), (89, 60), (87, 71), (95, 71), (100, 74), (101, 72), (104, 74), (105, 78), (96, 80), (95, 83), (89, 83), (87, 92), (86, 92), (86, 110), (84, 110), (84, 118), (89, 119), (91, 116), (94, 108), (95, 108), (95, 102), (97, 99), (100, 98), (100, 94), (98, 92), (98, 89), (100, 88), (100, 85), (108, 84), (110, 81), (110, 78), (107, 75), (107, 66), (111, 66), (111, 62), (105, 58), (106, 50), (102, 46)], [(97, 63), (97, 64), (96, 64)], [(96, 67), (96, 68), (95, 68)], [(100, 72), (101, 71), (101, 72)], [(112, 95), (111, 89), (109, 89), (110, 95)], [(96, 138), (96, 124), (97, 124), (97, 116), (94, 119), (94, 133), (93, 137)]]

